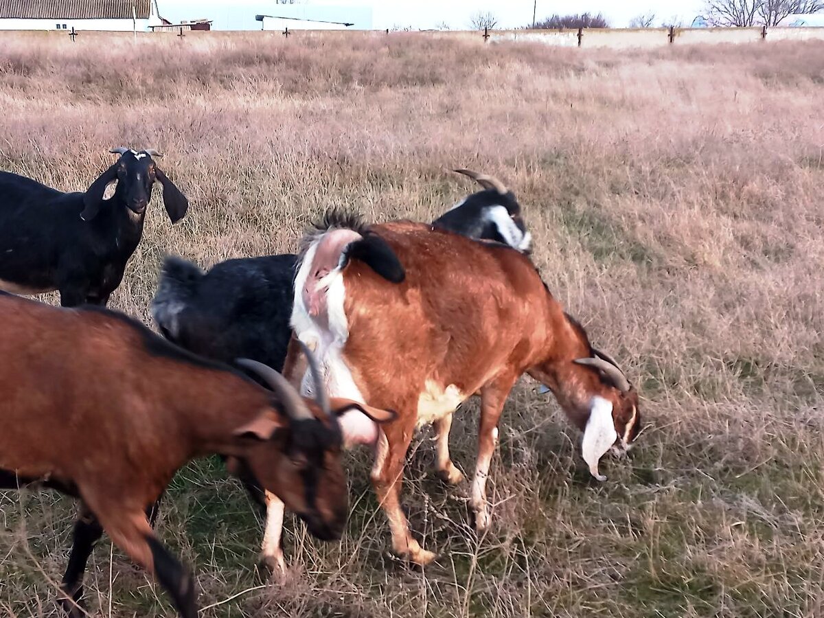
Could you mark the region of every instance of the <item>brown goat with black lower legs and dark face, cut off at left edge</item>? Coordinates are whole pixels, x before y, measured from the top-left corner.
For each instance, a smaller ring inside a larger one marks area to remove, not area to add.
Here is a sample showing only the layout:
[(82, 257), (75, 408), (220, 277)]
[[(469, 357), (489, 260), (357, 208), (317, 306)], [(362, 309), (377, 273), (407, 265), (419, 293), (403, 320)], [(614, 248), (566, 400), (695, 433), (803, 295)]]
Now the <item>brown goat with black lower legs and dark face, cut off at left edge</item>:
[[(81, 501), (61, 604), (81, 610), (82, 576), (106, 531), (154, 574), (185, 618), (197, 616), (194, 580), (152, 533), (147, 510), (195, 457), (227, 457), (325, 540), (348, 511), (337, 415), (363, 410), (307, 400), (279, 373), (241, 373), (185, 352), (145, 326), (96, 307), (60, 309), (0, 293), (0, 488), (42, 485)], [(313, 361), (310, 358), (310, 364)]]

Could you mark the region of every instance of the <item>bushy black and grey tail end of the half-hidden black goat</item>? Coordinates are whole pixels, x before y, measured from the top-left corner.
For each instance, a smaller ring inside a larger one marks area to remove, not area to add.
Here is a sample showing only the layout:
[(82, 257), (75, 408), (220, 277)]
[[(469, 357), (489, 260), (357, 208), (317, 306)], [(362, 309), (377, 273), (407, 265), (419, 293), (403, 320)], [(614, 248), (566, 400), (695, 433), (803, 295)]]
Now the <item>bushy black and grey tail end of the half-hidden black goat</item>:
[(176, 255), (170, 255), (163, 262), (151, 311), (166, 339), (174, 341), (180, 335), (180, 313), (191, 301), (203, 276), (199, 266)]

